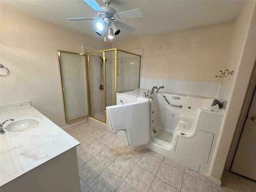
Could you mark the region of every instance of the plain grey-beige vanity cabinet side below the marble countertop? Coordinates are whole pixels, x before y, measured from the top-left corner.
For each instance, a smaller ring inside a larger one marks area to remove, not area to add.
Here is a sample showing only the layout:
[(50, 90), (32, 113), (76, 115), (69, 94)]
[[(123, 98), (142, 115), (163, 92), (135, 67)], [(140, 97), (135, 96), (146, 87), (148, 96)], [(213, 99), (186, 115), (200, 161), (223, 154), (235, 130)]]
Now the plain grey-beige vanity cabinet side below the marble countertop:
[(76, 147), (0, 186), (1, 192), (80, 192)]

